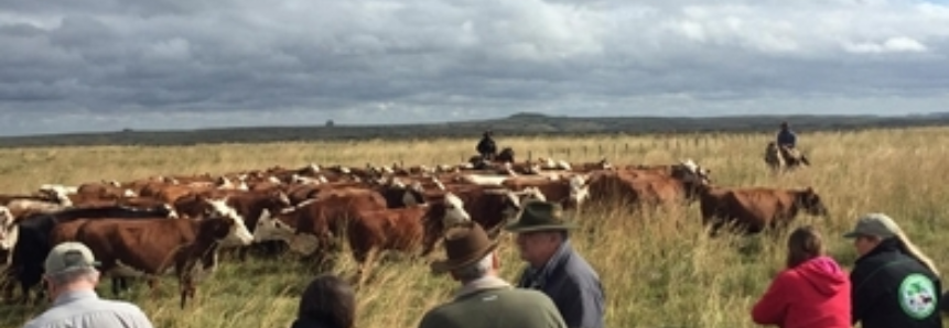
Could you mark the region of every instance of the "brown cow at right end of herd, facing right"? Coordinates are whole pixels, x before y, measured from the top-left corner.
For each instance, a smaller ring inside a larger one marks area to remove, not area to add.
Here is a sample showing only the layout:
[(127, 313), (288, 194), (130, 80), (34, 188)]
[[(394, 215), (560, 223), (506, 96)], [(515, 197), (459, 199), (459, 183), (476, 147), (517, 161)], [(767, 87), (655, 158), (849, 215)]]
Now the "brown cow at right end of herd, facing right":
[(734, 225), (745, 233), (757, 233), (767, 228), (785, 228), (799, 211), (826, 216), (828, 209), (811, 187), (804, 189), (778, 188), (720, 188), (703, 187), (699, 194), (702, 223), (711, 225), (712, 236), (722, 227)]

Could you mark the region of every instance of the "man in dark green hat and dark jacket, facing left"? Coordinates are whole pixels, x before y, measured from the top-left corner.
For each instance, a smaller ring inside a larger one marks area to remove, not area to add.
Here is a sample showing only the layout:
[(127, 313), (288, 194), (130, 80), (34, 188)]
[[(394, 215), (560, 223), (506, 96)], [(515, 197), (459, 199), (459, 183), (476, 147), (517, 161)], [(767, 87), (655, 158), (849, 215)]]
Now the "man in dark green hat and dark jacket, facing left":
[(570, 328), (604, 326), (604, 293), (600, 275), (573, 250), (559, 204), (529, 200), (517, 221), (505, 230), (517, 234), (521, 260), (528, 263), (517, 286), (550, 296)]

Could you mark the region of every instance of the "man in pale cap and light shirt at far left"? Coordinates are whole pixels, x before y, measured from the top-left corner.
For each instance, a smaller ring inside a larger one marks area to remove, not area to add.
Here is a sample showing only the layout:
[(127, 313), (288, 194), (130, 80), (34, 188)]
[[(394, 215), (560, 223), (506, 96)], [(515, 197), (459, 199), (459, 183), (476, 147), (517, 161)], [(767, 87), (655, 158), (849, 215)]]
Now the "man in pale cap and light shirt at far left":
[(46, 256), (44, 281), (53, 306), (24, 328), (152, 328), (137, 305), (100, 299), (98, 262), (79, 242), (60, 243)]

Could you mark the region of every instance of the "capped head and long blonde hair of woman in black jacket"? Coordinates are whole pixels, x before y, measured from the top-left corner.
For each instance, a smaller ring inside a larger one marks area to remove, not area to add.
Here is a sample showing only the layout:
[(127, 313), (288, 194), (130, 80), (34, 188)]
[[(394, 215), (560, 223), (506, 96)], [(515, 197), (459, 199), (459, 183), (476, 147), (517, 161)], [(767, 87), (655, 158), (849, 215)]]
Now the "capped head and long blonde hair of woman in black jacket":
[(935, 274), (939, 274), (932, 264), (903, 232), (889, 216), (881, 212), (866, 214), (856, 221), (853, 230), (843, 234), (844, 238), (853, 239), (853, 247), (860, 256), (866, 255), (884, 241), (895, 240), (899, 251), (916, 259), (923, 265), (929, 267)]

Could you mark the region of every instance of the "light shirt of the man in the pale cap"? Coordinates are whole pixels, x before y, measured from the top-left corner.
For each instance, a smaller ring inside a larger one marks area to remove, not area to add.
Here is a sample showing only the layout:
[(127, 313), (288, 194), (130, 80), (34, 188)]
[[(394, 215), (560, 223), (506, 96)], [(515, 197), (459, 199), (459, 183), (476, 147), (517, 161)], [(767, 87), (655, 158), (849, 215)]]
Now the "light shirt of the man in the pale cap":
[(66, 292), (23, 328), (152, 328), (141, 308), (101, 299), (94, 291)]

